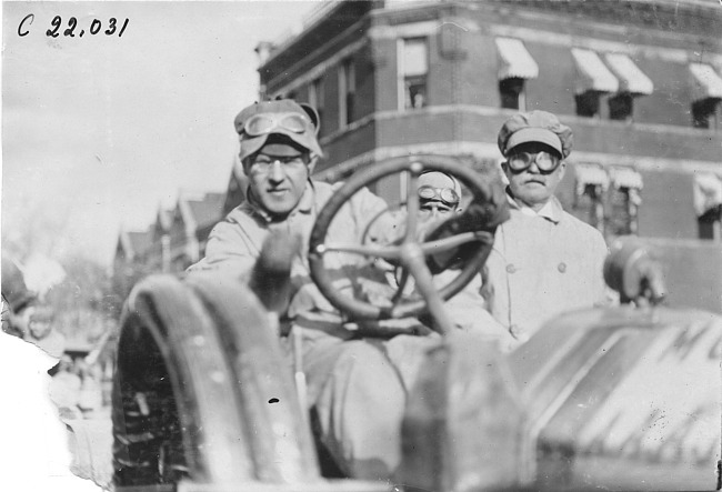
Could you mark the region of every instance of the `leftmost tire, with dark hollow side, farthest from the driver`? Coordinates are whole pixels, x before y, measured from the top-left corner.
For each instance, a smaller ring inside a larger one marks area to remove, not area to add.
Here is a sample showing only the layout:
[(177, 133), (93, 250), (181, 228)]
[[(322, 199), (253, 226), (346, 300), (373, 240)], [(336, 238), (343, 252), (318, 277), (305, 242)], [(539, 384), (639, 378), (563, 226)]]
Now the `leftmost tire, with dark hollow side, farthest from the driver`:
[(116, 484), (252, 478), (237, 393), (213, 319), (194, 292), (173, 277), (141, 282), (118, 344)]

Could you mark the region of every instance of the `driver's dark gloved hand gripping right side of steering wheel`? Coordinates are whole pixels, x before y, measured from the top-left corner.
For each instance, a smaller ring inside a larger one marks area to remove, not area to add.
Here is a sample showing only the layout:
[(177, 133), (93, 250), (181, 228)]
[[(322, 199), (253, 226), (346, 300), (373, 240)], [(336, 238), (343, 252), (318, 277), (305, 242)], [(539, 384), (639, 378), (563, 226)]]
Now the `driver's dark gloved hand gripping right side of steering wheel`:
[[(493, 182), (489, 187), (488, 198), (474, 197), (467, 210), (447, 219), (427, 234), (427, 241), (449, 238), (463, 232), (485, 231), (495, 232), (497, 227), (509, 220), (509, 203), (501, 182)], [(479, 245), (474, 242), (459, 247), (457, 251), (440, 257), (429, 257), (428, 265), (431, 273), (439, 273), (454, 263), (463, 262), (471, 257)]]

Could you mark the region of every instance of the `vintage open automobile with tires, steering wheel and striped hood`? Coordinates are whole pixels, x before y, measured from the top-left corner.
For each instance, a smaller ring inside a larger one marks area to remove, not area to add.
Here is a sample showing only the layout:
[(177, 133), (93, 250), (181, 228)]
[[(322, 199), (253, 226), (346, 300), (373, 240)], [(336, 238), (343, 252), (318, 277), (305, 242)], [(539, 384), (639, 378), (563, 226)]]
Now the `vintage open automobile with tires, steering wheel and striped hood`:
[[(493, 234), (420, 242), (410, 192), (401, 243), (325, 242), (334, 215), (361, 188), (403, 173), (415, 190), (430, 169), (453, 173), (478, 198), (494, 185), (448, 157), (380, 162), (332, 197), (309, 245), (313, 280), (349, 320), (427, 313), (443, 335), (409, 395), (395, 490), (720, 489), (722, 319), (663, 304), (669, 272), (656, 249), (615, 243), (605, 277), (623, 302), (566, 313), (504, 354), (452, 328), (443, 305), (479, 272)], [(437, 289), (427, 258), (469, 244), (459, 275)], [(250, 287), (199, 273), (151, 277), (133, 289), (113, 390), (117, 490), (393, 490), (333, 475), (317, 452), (302, 370), (283, 355), (293, 334), (278, 330), (290, 251), (269, 247)], [(339, 253), (395, 264), (395, 293), (380, 303), (340, 293), (324, 268), (324, 258)], [(722, 278), (722, 252), (706, 265)], [(408, 294), (411, 281), (421, 295)]]

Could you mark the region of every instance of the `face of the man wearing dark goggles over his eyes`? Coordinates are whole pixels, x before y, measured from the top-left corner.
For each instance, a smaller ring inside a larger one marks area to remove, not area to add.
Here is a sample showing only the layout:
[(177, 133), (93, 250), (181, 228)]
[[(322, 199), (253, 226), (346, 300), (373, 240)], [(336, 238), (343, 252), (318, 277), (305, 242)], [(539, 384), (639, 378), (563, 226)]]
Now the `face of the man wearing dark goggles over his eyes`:
[[(544, 159), (544, 155), (540, 155), (540, 152), (550, 153), (553, 163), (559, 163), (554, 170), (543, 171), (540, 169), (540, 162)], [(525, 158), (531, 159), (531, 165), (522, 171), (512, 170), (509, 161), (523, 153), (528, 154)], [(543, 143), (530, 142), (513, 148), (507, 157), (507, 162), (502, 164), (502, 169), (507, 174), (513, 197), (527, 207), (539, 211), (556, 191), (556, 187), (564, 177), (565, 165), (563, 161), (560, 162), (554, 150), (550, 147)]]

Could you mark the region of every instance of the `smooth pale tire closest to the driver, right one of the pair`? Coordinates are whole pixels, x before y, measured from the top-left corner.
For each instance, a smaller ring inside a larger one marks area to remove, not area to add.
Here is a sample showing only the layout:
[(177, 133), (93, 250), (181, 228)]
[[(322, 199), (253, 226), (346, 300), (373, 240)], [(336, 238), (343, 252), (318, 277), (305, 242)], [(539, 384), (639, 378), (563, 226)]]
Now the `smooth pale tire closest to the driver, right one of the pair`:
[(292, 364), (278, 328), (254, 294), (234, 279), (195, 274), (188, 283), (213, 313), (217, 333), (239, 384), (240, 410), (254, 476), (264, 483), (320, 480), (313, 438), (301, 409)]

